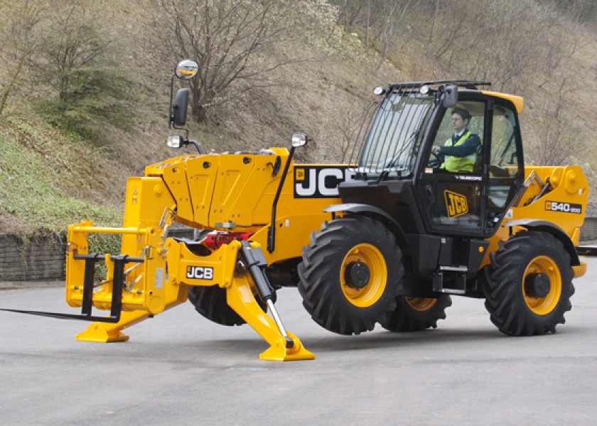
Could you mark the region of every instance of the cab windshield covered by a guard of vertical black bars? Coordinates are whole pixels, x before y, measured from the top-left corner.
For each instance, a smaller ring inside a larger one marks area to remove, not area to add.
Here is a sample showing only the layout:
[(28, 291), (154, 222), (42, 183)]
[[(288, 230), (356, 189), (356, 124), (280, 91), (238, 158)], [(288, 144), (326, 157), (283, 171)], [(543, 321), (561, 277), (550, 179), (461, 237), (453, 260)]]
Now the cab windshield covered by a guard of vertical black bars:
[(357, 161), (357, 172), (405, 177), (412, 173), (421, 142), (421, 129), (429, 120), (434, 97), (419, 93), (393, 93), (385, 97), (372, 118)]

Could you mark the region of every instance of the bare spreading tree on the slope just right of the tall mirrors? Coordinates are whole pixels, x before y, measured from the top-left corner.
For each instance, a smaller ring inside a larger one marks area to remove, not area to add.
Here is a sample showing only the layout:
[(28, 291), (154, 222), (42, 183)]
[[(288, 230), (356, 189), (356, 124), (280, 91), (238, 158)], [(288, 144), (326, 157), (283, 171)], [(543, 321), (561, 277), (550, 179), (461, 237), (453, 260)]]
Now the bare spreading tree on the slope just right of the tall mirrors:
[(200, 67), (190, 83), (198, 121), (208, 119), (208, 109), (241, 92), (279, 84), (270, 73), (301, 56), (264, 54), (291, 31), (281, 14), (289, 9), (287, 2), (159, 0), (157, 6), (166, 28), (173, 31), (173, 37), (166, 38), (172, 56), (193, 58)]

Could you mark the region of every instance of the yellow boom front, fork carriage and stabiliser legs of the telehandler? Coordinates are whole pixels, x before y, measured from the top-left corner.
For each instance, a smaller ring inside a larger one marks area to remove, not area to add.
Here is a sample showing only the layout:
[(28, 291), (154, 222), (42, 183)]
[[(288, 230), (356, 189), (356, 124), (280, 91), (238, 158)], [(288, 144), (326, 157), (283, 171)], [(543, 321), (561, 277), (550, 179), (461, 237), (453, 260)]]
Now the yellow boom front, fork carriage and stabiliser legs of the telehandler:
[[(247, 155), (186, 155), (151, 165), (146, 177), (129, 178), (122, 228), (97, 227), (88, 221), (69, 226), (66, 300), (73, 307), (81, 307), (84, 300), (85, 260), (80, 257), (90, 253), (90, 234), (121, 234), (121, 253), (143, 258), (125, 270), (119, 322), (92, 322), (77, 339), (127, 340), (124, 328), (185, 302), (190, 285), (218, 285), (226, 290), (228, 305), (269, 343), (262, 359), (313, 359), (314, 355), (290, 332), (294, 344), (286, 347), (276, 323), (255, 300), (257, 290), (251, 275), (236, 271), (239, 241), (199, 256), (191, 253), (184, 242), (167, 236), (173, 221), (198, 229), (250, 232), (251, 246), (262, 248), (268, 264), (300, 256), (311, 231), (319, 229), (329, 217), (323, 209), (338, 200), (305, 199), (297, 208), (296, 202), (289, 200), (294, 197), (294, 169), (289, 168), (275, 224), (276, 240), (284, 243), (269, 253), (265, 250), (267, 230), (281, 178), (281, 171), (272, 173), (276, 158), (284, 165), (288, 152), (276, 149)], [(112, 304), (114, 263), (112, 256), (105, 257), (107, 276), (97, 280), (92, 295), (92, 305), (99, 310), (109, 310)], [(210, 279), (189, 278), (189, 268), (209, 268)]]

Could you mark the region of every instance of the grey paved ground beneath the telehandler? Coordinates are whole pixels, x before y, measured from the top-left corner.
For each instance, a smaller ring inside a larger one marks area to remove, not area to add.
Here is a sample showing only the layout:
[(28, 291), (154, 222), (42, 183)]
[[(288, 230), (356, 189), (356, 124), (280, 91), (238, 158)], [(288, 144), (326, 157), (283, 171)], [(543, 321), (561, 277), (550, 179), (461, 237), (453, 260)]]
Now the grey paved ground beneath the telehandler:
[[(453, 297), (437, 329), (341, 337), (298, 292), (282, 318), (315, 361), (259, 361), (247, 326), (183, 305), (127, 332), (77, 342), (85, 324), (0, 312), (1, 425), (594, 425), (597, 259), (558, 333), (505, 337), (481, 300)], [(0, 307), (71, 312), (60, 288), (4, 290)]]

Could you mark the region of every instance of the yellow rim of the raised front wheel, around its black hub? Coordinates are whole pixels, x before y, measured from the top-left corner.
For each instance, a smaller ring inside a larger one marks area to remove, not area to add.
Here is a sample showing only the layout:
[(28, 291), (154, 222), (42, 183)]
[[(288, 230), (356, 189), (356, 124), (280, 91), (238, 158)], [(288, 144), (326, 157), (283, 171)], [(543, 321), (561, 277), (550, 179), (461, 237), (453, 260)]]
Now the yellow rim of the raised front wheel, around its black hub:
[[(346, 268), (354, 262), (361, 262), (367, 265), (370, 278), (363, 288), (356, 288), (345, 279)], [(384, 256), (371, 244), (357, 244), (344, 256), (340, 266), (340, 287), (346, 300), (357, 307), (369, 307), (373, 305), (384, 293), (387, 283), (387, 267)]]

